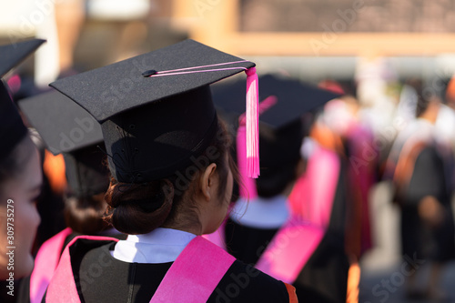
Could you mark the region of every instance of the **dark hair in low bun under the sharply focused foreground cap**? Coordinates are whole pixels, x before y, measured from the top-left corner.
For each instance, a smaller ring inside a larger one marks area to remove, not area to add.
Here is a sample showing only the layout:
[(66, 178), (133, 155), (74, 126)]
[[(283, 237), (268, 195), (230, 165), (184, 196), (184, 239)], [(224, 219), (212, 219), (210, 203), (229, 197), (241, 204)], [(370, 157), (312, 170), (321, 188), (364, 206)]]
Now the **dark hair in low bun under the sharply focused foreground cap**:
[[(193, 181), (197, 180), (200, 172), (210, 163), (215, 163), (219, 177), (217, 194), (220, 198), (224, 197), (228, 166), (232, 164), (232, 161), (227, 163), (225, 160), (230, 145), (231, 139), (226, 126), (218, 119), (217, 135), (191, 166), (170, 177), (143, 184), (119, 183), (115, 178), (111, 178), (105, 196), (108, 205), (105, 217), (107, 222), (130, 235), (146, 234), (162, 226), (178, 227), (178, 224), (188, 222), (199, 225), (196, 205), (192, 198), (196, 193), (197, 182)], [(182, 180), (182, 177), (187, 179)], [(183, 220), (178, 220), (182, 218)]]

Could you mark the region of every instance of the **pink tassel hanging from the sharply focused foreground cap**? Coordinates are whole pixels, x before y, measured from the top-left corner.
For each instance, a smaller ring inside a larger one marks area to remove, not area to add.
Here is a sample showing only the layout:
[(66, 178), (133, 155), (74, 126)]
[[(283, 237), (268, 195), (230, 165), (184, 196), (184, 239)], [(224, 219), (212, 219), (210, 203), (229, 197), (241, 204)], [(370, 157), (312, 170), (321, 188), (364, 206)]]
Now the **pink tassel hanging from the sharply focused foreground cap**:
[(258, 178), (259, 172), (259, 112), (258, 74), (256, 67), (247, 73), (247, 176)]

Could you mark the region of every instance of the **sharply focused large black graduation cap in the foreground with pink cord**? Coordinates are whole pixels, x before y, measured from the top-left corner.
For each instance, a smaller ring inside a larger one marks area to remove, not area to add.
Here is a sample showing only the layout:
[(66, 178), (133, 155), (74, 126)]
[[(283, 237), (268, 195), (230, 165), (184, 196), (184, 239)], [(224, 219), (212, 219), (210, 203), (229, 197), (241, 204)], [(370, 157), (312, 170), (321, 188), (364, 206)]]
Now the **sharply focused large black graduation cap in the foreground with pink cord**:
[(217, 130), (209, 85), (246, 71), (254, 95), (254, 66), (186, 40), (51, 86), (101, 124), (112, 176), (143, 183), (192, 164)]

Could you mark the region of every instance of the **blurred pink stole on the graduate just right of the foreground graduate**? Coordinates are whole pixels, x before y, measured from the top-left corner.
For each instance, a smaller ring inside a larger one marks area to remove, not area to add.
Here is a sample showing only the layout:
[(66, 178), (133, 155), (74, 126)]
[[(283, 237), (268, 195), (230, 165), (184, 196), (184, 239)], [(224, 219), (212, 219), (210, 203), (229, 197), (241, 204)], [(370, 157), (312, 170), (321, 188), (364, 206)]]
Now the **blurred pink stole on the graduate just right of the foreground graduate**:
[(306, 174), (289, 197), (293, 210), (290, 220), (278, 230), (256, 268), (285, 283), (296, 280), (329, 226), (339, 167), (335, 153), (321, 147), (315, 151)]

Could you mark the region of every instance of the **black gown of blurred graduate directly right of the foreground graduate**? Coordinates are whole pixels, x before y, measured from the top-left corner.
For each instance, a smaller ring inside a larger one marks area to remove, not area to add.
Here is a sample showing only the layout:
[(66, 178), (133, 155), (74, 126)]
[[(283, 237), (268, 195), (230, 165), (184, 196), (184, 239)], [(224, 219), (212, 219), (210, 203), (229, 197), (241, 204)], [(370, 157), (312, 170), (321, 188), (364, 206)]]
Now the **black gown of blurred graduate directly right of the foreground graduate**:
[[(300, 300), (318, 303), (346, 301), (349, 258), (345, 248), (347, 167), (343, 159), (332, 204), (329, 227), (311, 254), (298, 278), (292, 283)], [(227, 220), (227, 249), (234, 257), (256, 264), (278, 229), (246, 227)]]

